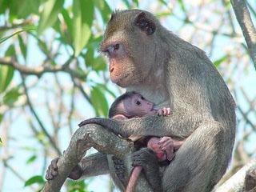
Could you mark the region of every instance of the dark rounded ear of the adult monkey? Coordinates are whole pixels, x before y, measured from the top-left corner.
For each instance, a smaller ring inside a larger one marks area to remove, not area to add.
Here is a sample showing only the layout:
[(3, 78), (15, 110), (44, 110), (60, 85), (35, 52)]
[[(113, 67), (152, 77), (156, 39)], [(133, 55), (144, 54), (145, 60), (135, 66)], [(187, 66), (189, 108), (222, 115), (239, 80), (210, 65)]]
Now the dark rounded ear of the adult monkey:
[(155, 24), (146, 18), (145, 12), (138, 14), (135, 18), (135, 25), (140, 28), (140, 30), (145, 31), (147, 35), (154, 34)]

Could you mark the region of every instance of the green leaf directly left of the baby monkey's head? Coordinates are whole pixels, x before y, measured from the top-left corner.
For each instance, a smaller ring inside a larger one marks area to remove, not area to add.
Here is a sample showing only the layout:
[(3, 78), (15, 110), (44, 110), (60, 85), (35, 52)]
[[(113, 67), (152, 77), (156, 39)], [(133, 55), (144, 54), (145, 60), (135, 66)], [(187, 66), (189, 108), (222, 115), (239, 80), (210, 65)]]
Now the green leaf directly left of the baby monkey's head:
[(98, 86), (94, 86), (90, 92), (90, 99), (94, 106), (97, 116), (104, 115), (107, 116), (108, 113), (108, 103), (106, 101), (105, 94)]

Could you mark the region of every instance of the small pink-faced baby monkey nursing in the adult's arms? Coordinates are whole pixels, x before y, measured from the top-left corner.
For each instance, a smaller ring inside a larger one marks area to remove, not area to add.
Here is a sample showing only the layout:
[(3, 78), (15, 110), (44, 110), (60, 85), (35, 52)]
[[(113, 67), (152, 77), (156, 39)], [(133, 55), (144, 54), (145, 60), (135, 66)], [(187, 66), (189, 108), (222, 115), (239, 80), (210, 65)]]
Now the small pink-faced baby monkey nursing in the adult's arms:
[[(164, 116), (170, 115), (170, 108), (164, 107), (160, 110), (156, 110), (154, 109), (154, 103), (147, 101), (141, 94), (128, 92), (126, 94), (122, 94), (122, 96), (114, 101), (110, 107), (109, 117), (124, 120), (127, 118), (139, 118), (154, 114)], [(174, 158), (174, 151), (178, 150), (183, 143), (182, 141), (177, 141), (170, 137), (140, 138), (139, 135), (131, 135), (129, 139), (132, 140), (135, 145), (138, 142), (140, 147), (143, 146), (143, 142), (140, 140), (144, 140), (144, 143), (146, 141), (145, 146), (154, 151), (154, 154), (158, 158), (158, 162), (171, 161)], [(138, 180), (138, 175), (140, 174), (141, 170), (142, 166), (134, 167), (134, 170), (132, 170), (132, 173), (130, 174), (126, 192), (134, 191), (136, 182)], [(152, 185), (152, 183), (150, 183), (150, 185)]]

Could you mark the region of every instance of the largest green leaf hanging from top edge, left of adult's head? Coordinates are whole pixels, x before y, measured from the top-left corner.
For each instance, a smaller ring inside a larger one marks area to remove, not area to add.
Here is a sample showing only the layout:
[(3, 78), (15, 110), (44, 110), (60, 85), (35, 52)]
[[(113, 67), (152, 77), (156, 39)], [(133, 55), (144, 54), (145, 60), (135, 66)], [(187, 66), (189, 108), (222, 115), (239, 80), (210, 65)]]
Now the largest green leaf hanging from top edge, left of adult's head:
[(73, 30), (72, 39), (74, 56), (77, 57), (86, 46), (90, 38), (90, 26), (94, 17), (94, 4), (92, 0), (76, 0), (73, 3)]

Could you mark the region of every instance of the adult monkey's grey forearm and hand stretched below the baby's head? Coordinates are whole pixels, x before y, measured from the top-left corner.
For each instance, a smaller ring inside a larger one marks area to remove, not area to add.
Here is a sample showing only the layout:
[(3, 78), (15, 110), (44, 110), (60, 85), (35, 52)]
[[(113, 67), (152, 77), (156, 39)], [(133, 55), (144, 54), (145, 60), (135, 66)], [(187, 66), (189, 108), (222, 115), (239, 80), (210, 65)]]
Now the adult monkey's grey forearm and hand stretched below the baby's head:
[[(184, 110), (183, 110), (184, 111)], [(170, 136), (176, 138), (187, 138), (202, 122), (202, 115), (186, 114), (176, 112), (167, 117), (157, 115), (145, 118), (132, 118), (127, 120), (114, 120), (106, 118), (90, 118), (79, 124), (98, 124), (115, 134), (129, 137), (131, 134), (142, 136)]]

